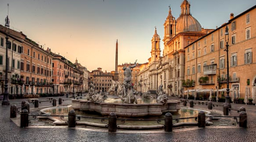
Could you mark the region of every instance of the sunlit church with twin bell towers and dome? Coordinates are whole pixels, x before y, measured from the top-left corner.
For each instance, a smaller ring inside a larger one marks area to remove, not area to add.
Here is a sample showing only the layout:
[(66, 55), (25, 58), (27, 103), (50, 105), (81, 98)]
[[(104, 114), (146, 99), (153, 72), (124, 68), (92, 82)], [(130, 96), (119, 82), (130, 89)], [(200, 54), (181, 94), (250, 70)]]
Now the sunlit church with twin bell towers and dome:
[(151, 57), (148, 63), (141, 65), (137, 82), (142, 85), (142, 92), (157, 90), (160, 85), (166, 94), (181, 94), (183, 91), (185, 50), (184, 47), (199, 37), (207, 35), (212, 29), (203, 29), (201, 24), (190, 14), (190, 3), (184, 0), (181, 14), (175, 19), (172, 10), (164, 22), (163, 54), (160, 55), (160, 36), (155, 29), (151, 39)]

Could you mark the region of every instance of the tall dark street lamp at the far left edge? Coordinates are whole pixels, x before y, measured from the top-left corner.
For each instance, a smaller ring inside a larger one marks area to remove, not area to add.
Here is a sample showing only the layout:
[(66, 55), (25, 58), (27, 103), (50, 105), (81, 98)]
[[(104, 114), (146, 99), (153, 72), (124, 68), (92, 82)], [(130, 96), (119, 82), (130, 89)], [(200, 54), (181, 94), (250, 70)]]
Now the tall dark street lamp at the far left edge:
[[(9, 27), (9, 18), (7, 16), (6, 20), (5, 20), (5, 26)], [(9, 37), (8, 37), (9, 33), (6, 33), (6, 47), (5, 47), (5, 83), (4, 83), (4, 93), (3, 93), (3, 101), (2, 101), (2, 105), (9, 105), (9, 93), (8, 93), (8, 70), (9, 70), (9, 60), (8, 60), (8, 48), (9, 48), (9, 44), (10, 42), (8, 41)]]

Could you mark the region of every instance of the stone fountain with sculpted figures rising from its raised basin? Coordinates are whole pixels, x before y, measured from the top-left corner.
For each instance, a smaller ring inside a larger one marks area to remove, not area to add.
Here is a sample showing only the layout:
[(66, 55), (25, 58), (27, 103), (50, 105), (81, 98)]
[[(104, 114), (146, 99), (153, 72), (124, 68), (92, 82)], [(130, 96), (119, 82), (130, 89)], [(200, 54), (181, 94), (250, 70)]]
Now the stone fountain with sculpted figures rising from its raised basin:
[[(124, 67), (124, 82), (114, 82), (108, 92), (113, 91), (119, 99), (108, 99), (108, 96), (95, 91), (95, 86), (90, 82), (89, 94), (85, 99), (73, 99), (72, 107), (80, 111), (96, 111), (102, 116), (108, 116), (111, 112), (117, 116), (139, 117), (139, 116), (161, 116), (165, 112), (177, 112), (180, 110), (179, 102), (168, 100), (160, 85), (157, 98), (139, 99), (137, 91), (131, 85), (131, 69), (134, 65)], [(149, 94), (148, 94), (149, 95)]]

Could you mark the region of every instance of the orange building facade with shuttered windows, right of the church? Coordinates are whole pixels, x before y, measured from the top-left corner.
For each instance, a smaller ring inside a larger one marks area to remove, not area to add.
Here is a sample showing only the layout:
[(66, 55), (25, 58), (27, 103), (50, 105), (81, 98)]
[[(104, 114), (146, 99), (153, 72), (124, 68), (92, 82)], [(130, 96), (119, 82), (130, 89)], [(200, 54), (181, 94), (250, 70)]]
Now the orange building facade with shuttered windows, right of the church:
[[(201, 37), (185, 47), (185, 82), (186, 90), (208, 88), (212, 90), (226, 88), (227, 53), (229, 44), (229, 68), (231, 98), (248, 98), (255, 94), (256, 71), (256, 6), (234, 17), (216, 30)], [(225, 28), (229, 28), (229, 36)], [(193, 83), (188, 83), (193, 82)], [(225, 90), (225, 89), (224, 89)], [(221, 95), (223, 94), (223, 95)], [(224, 93), (218, 97), (224, 96)]]

